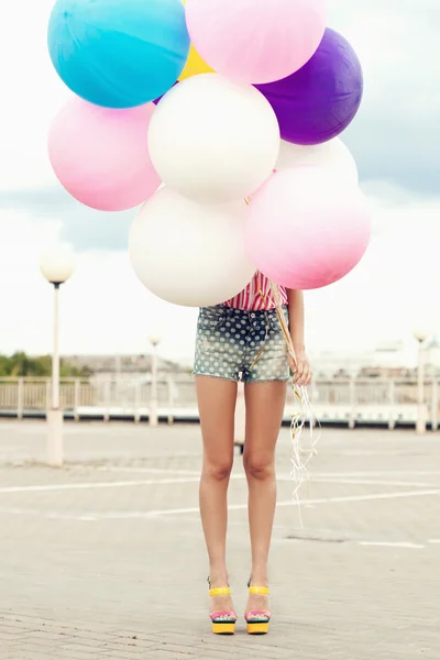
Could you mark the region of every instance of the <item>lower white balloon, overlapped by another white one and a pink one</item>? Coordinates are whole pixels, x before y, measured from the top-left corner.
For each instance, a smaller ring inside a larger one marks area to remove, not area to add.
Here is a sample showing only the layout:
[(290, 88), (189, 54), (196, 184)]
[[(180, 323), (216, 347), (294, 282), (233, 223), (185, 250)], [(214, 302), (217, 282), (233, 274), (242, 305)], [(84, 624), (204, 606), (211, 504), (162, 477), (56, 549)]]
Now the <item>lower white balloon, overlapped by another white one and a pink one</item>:
[(239, 294), (255, 266), (244, 246), (244, 201), (207, 206), (163, 188), (138, 213), (130, 258), (160, 298), (186, 307), (219, 305)]

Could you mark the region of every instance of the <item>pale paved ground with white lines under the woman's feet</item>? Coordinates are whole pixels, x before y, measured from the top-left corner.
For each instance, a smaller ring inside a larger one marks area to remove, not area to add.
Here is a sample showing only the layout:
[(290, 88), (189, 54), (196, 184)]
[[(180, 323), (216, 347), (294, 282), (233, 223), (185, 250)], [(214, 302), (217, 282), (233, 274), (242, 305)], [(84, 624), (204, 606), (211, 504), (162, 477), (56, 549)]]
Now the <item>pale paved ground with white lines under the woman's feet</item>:
[[(0, 659), (440, 658), (440, 435), (324, 430), (304, 506), (278, 450), (273, 627), (213, 637), (197, 516), (197, 426), (66, 427), (46, 469), (44, 424), (0, 424)], [(230, 494), (242, 612), (245, 482)]]

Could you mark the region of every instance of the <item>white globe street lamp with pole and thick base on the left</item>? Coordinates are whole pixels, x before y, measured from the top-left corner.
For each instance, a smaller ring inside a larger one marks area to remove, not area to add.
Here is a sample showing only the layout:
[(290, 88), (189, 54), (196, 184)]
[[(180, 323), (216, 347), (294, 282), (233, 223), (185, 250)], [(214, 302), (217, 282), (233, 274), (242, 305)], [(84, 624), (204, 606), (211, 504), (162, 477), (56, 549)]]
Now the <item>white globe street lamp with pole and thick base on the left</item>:
[(63, 410), (59, 406), (59, 287), (74, 272), (74, 255), (64, 248), (46, 252), (40, 270), (54, 287), (54, 345), (52, 355), (52, 404), (47, 413), (47, 462), (53, 468), (63, 465)]

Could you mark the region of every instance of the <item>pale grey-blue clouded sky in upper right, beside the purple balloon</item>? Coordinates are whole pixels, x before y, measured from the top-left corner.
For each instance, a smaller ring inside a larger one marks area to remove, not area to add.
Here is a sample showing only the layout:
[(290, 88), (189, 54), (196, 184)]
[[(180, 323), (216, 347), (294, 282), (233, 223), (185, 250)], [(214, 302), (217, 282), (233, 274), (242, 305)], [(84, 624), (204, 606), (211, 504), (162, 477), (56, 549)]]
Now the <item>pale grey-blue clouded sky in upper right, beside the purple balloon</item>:
[(351, 41), (364, 69), (363, 105), (344, 134), (361, 178), (437, 193), (439, 3), (340, 0), (330, 4), (330, 24)]

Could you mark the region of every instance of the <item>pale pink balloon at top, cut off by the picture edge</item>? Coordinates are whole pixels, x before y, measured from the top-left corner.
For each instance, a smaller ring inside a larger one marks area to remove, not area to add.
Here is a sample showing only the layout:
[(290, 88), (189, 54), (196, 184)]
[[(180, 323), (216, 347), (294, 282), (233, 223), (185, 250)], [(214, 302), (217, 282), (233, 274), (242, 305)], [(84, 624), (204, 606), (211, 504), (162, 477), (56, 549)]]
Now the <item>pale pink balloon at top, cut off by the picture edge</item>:
[(201, 57), (239, 82), (279, 80), (316, 53), (324, 0), (187, 0), (189, 35)]

